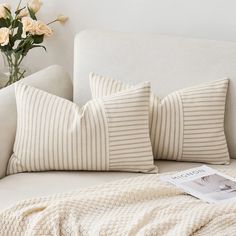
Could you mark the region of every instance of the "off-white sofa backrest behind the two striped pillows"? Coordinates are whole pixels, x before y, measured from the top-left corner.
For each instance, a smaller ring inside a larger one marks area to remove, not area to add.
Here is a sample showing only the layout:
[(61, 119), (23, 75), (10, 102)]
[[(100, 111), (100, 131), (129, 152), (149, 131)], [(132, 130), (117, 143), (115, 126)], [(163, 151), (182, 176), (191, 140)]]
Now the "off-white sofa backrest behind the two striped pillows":
[(129, 84), (151, 81), (159, 96), (229, 77), (225, 127), (231, 157), (236, 158), (236, 43), (86, 30), (75, 39), (74, 101), (78, 103), (91, 97), (90, 72)]

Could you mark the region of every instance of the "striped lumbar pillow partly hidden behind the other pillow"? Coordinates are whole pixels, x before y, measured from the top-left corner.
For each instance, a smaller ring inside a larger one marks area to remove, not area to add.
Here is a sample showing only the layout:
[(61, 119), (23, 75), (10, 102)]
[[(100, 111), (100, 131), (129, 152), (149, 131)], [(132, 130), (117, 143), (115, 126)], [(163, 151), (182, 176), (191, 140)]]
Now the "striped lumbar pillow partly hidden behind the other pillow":
[[(204, 83), (169, 94), (151, 94), (150, 137), (155, 159), (229, 163), (224, 132), (228, 79)], [(132, 86), (90, 74), (93, 98), (115, 94)]]

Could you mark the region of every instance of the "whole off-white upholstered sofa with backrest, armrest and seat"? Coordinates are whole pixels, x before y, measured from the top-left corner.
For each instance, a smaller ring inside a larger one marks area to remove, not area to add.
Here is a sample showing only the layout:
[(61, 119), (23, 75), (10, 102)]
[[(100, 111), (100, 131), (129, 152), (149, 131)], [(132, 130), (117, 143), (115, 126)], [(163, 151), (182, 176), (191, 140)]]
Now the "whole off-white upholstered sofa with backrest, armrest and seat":
[[(130, 84), (149, 80), (164, 96), (179, 88), (228, 76), (226, 131), (231, 157), (236, 157), (236, 44), (159, 35), (87, 30), (75, 39), (74, 86), (59, 66), (44, 69), (24, 81), (80, 104), (90, 98), (88, 74), (93, 71)], [(73, 87), (73, 88), (72, 88)], [(122, 172), (41, 172), (5, 176), (16, 132), (14, 86), (0, 91), (0, 211), (35, 196), (69, 191), (141, 174)], [(201, 165), (157, 161), (160, 172)], [(219, 166), (216, 166), (219, 168)], [(225, 168), (235, 168), (236, 160)]]

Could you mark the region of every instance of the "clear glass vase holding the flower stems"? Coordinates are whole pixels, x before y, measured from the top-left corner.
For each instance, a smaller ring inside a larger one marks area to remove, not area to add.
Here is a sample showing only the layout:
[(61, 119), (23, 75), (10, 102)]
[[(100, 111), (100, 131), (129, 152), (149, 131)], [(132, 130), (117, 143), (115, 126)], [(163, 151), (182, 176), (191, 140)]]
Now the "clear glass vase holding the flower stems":
[(25, 77), (26, 69), (22, 64), (24, 56), (12, 51), (2, 52), (3, 66), (0, 69), (0, 88), (11, 85)]

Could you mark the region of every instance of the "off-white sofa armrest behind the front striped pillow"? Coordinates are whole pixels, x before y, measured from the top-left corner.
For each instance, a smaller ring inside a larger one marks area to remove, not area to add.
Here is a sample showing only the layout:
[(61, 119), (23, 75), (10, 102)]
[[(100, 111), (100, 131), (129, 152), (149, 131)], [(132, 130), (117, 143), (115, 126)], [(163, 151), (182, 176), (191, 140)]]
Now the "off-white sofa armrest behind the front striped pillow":
[[(26, 84), (72, 100), (72, 81), (60, 66), (50, 66), (23, 80)], [(0, 178), (6, 173), (16, 133), (14, 85), (0, 90)]]

